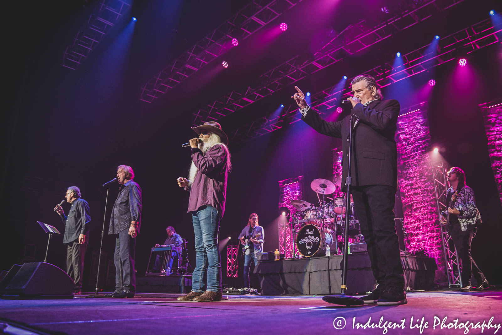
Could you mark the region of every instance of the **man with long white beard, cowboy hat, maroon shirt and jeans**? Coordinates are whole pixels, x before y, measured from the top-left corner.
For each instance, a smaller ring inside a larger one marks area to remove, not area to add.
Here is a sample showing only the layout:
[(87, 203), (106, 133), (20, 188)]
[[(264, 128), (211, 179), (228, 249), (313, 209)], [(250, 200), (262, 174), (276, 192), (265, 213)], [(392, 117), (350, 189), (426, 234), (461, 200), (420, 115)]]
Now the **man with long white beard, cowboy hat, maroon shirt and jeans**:
[(221, 255), (218, 249), (219, 221), (225, 210), (226, 180), (230, 172), (228, 137), (216, 122), (192, 127), (199, 134), (190, 140), (192, 163), (188, 179), (178, 186), (190, 191), (188, 212), (195, 233), (196, 266), (192, 290), (181, 301), (221, 301)]

